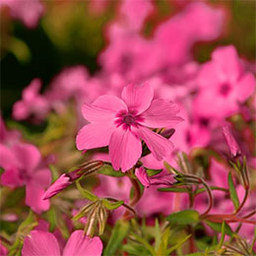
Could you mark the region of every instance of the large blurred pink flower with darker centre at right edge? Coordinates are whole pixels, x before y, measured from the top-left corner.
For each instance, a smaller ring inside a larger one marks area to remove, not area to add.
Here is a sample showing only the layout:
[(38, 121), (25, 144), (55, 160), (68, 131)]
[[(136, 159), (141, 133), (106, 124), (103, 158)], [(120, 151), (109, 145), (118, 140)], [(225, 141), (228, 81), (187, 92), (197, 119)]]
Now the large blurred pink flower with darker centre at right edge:
[(236, 113), (239, 103), (252, 95), (254, 76), (246, 73), (241, 63), (232, 45), (213, 52), (212, 60), (202, 66), (198, 76), (200, 93), (195, 100), (198, 114), (225, 118)]

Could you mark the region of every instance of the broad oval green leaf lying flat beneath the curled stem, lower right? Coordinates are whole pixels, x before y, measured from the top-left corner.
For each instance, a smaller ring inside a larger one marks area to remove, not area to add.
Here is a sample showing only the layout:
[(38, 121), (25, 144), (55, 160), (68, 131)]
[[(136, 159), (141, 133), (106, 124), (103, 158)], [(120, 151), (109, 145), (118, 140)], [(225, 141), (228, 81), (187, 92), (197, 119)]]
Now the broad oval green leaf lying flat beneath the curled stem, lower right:
[(194, 224), (199, 221), (199, 213), (194, 210), (185, 210), (169, 215), (166, 220), (170, 224)]

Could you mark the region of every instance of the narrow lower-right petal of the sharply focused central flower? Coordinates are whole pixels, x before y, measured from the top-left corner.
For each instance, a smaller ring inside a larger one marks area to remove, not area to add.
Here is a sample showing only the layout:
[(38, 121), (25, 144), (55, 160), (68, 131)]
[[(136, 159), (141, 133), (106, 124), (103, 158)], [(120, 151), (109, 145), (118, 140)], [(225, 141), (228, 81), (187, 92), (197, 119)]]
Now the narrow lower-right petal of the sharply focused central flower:
[(163, 157), (168, 157), (171, 155), (173, 144), (170, 141), (166, 140), (147, 127), (139, 126), (134, 130), (135, 133), (145, 141), (157, 160), (162, 160)]

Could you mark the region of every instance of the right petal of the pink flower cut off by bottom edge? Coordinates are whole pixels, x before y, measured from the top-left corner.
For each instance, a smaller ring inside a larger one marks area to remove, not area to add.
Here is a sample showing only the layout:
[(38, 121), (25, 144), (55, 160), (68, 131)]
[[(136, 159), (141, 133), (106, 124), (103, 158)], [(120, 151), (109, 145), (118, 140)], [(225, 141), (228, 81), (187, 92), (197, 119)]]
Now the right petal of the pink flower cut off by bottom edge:
[(99, 237), (90, 238), (83, 230), (74, 231), (64, 248), (63, 256), (100, 256), (102, 242)]

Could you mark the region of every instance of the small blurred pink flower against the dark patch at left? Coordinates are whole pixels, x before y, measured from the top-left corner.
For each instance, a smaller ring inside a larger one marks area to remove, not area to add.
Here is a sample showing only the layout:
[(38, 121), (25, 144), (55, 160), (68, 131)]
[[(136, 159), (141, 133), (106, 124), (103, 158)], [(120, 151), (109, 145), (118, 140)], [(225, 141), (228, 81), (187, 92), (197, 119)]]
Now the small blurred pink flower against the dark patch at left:
[(33, 79), (31, 84), (23, 91), (23, 99), (13, 106), (13, 117), (16, 120), (28, 119), (31, 115), (34, 121), (41, 121), (49, 111), (48, 100), (39, 95), (41, 81)]

